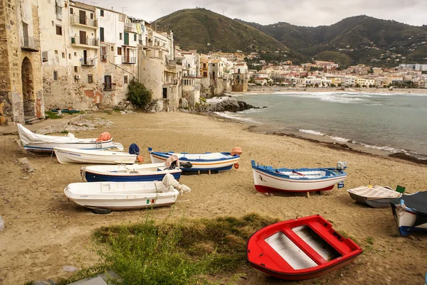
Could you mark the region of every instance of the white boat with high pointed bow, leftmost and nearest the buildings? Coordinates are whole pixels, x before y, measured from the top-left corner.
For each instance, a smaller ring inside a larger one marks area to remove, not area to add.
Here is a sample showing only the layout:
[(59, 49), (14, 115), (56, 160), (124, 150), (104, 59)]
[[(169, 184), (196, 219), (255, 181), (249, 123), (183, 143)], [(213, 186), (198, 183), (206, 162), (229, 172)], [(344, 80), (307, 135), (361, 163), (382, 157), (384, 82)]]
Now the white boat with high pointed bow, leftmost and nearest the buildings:
[(112, 142), (112, 138), (107, 141), (97, 141), (93, 139), (78, 139), (73, 134), (66, 136), (46, 136), (44, 134), (34, 134), (26, 127), (18, 124), (19, 139), (23, 148), (28, 151), (53, 151), (54, 147), (68, 149), (111, 149), (117, 148), (123, 150), (122, 144)]

